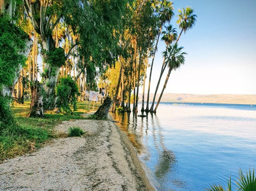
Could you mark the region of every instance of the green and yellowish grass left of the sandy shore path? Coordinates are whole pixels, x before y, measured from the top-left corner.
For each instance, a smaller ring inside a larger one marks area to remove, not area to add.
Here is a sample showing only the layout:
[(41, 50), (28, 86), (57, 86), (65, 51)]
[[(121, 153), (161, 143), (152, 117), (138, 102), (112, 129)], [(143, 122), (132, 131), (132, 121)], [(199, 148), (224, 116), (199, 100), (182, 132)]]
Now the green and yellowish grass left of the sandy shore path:
[[(84, 102), (77, 101), (78, 110), (74, 115), (47, 111), (44, 118), (30, 118), (27, 117), (29, 108), (30, 101), (25, 101), (24, 104), (14, 103), (12, 112), (17, 124), (0, 132), (0, 161), (34, 152), (53, 138), (67, 137), (55, 132), (55, 125), (62, 121), (85, 119), (80, 114), (89, 111)], [(96, 109), (97, 107), (94, 107), (94, 110)]]

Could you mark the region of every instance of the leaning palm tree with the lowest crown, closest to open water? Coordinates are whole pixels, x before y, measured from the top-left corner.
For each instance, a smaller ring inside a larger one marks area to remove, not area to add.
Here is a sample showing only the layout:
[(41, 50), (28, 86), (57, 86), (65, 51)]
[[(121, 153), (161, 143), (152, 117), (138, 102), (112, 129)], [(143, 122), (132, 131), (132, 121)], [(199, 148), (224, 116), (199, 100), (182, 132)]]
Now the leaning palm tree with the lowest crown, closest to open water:
[[(160, 100), (162, 98), (162, 95), (164, 93), (164, 89), (166, 88), (166, 85), (167, 85), (169, 76), (171, 74), (171, 71), (178, 69), (182, 64), (185, 63), (185, 56), (184, 55), (187, 54), (187, 53), (186, 52), (181, 52), (183, 48), (184, 47), (182, 47), (182, 46), (178, 47), (176, 43), (173, 46), (170, 46), (168, 48), (168, 52), (170, 52), (170, 54), (171, 54), (169, 56), (169, 57), (171, 57), (171, 59), (167, 60), (167, 65), (169, 66), (169, 71), (168, 71), (168, 74), (166, 76), (166, 81), (164, 83), (164, 87), (163, 87), (162, 92), (161, 92), (161, 94), (159, 96), (159, 99), (157, 101), (157, 105), (155, 106), (154, 113), (157, 111), (157, 107), (158, 107), (158, 105), (160, 103)], [(166, 56), (167, 56), (167, 54), (165, 55), (165, 57)]]

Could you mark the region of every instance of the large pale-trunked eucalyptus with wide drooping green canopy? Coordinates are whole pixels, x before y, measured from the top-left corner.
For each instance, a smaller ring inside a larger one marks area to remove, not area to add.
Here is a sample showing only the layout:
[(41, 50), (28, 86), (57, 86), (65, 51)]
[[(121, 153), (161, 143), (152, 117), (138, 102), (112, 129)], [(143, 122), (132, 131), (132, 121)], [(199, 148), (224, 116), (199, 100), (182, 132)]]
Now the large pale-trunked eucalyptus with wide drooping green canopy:
[[(119, 24), (126, 0), (104, 2), (99, 0), (23, 0), (23, 2), (27, 17), (41, 37), (41, 56), (44, 61), (42, 78), (48, 95), (45, 102), (46, 108), (52, 109), (59, 70), (69, 58), (72, 49), (78, 47), (80, 58), (82, 58), (82, 64), (79, 66), (82, 70), (87, 66), (92, 72), (87, 73), (88, 79), (92, 79), (96, 74), (94, 64), (99, 66), (97, 52), (102, 51), (102, 47), (110, 39), (109, 36), (113, 37), (113, 29)], [(53, 30), (59, 23), (70, 26), (73, 33), (77, 35), (77, 42), (70, 45), (67, 54), (63, 48), (58, 47), (56, 39), (53, 38)], [(96, 83), (93, 82), (93, 86), (95, 85)]]

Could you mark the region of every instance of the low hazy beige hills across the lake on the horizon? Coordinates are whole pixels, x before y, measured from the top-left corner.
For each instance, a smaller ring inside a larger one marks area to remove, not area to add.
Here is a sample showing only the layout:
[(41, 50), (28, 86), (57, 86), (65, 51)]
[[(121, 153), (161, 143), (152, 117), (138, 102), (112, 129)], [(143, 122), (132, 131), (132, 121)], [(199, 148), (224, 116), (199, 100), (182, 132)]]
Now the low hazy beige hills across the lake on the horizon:
[[(160, 94), (157, 94), (158, 100)], [(149, 100), (152, 101), (154, 94), (150, 93)], [(139, 94), (139, 101), (142, 101), (142, 93)], [(147, 94), (145, 94), (147, 101)], [(179, 103), (234, 103), (256, 105), (256, 95), (235, 95), (235, 94), (210, 94), (198, 95), (188, 93), (164, 93), (161, 102)]]

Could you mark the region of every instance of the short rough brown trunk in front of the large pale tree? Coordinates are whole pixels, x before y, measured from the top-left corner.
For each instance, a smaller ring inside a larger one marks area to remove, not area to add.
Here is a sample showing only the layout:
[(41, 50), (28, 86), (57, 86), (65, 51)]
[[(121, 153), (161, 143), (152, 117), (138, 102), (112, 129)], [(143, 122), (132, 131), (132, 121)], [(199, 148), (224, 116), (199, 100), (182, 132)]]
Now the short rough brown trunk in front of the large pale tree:
[(43, 110), (43, 86), (39, 81), (31, 83), (31, 104), (29, 117), (44, 117)]

